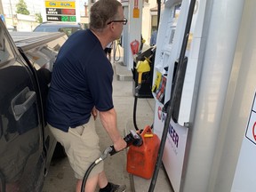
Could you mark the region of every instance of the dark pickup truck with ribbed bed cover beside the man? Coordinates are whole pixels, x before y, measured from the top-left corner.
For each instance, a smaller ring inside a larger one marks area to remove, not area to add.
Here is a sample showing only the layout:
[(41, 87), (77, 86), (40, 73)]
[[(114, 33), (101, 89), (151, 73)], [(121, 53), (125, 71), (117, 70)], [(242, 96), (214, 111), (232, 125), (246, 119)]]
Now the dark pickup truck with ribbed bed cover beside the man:
[(14, 43), (0, 20), (0, 191), (42, 191), (56, 145), (44, 118), (49, 63), (68, 37), (15, 33)]

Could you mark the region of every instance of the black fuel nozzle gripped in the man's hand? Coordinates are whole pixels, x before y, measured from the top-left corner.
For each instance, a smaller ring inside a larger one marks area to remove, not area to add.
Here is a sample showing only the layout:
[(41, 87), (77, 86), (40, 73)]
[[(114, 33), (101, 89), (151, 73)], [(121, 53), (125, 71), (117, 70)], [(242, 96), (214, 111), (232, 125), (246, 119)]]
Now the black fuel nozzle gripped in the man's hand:
[[(143, 144), (143, 140), (137, 132), (134, 132), (133, 130), (130, 130), (130, 133), (124, 137), (125, 142), (127, 143), (126, 148), (130, 147), (131, 145), (140, 147)], [(109, 152), (110, 156), (115, 155), (116, 149), (114, 146), (110, 146), (112, 150)]]

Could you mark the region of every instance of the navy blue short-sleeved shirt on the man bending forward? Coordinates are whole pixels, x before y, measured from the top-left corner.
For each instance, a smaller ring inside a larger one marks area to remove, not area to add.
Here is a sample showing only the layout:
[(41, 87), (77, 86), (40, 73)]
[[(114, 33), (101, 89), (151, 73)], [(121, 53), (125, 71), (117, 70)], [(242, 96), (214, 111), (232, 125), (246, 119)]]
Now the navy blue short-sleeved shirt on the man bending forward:
[(47, 122), (64, 132), (86, 124), (95, 106), (114, 108), (113, 68), (90, 29), (77, 31), (62, 45), (52, 70)]

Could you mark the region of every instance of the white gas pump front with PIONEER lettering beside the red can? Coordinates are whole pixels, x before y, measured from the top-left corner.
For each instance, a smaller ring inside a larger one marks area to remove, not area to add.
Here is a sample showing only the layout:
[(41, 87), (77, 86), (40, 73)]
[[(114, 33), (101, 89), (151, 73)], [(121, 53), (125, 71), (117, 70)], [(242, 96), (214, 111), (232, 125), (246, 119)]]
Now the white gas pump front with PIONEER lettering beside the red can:
[[(159, 138), (162, 137), (162, 134), (166, 135), (166, 142), (162, 143), (162, 148), (160, 146), (158, 156), (161, 158), (163, 156), (164, 168), (168, 174), (168, 177), (172, 183), (172, 188), (174, 191), (180, 191), (180, 182), (181, 175), (183, 172), (183, 162), (185, 156), (185, 149), (188, 137), (188, 127), (184, 126), (184, 123), (180, 123), (180, 116), (176, 116), (175, 122), (173, 116), (170, 120), (170, 124), (165, 123), (167, 118), (167, 107), (168, 101), (173, 97), (173, 87), (175, 84), (175, 74), (178, 67), (177, 64), (185, 66), (179, 72), (183, 81), (185, 78), (186, 67), (188, 64), (188, 50), (186, 57), (182, 57), (179, 62), (180, 49), (182, 46), (183, 35), (186, 27), (187, 17), (188, 17), (188, 7), (189, 1), (167, 1), (164, 5), (164, 10), (161, 17), (161, 22), (157, 32), (157, 41), (156, 41), (156, 59), (155, 59), (155, 68), (153, 76), (153, 96), (156, 100), (155, 107), (155, 118), (154, 118), (154, 132), (158, 135)], [(181, 10), (183, 13), (181, 14)], [(180, 24), (182, 23), (182, 24)], [(179, 25), (180, 24), (180, 25)], [(166, 28), (167, 26), (167, 28)], [(186, 50), (186, 47), (185, 47)], [(175, 64), (176, 63), (176, 64)], [(180, 68), (180, 67), (179, 67)], [(185, 70), (184, 70), (185, 69)], [(182, 82), (181, 82), (182, 83)], [(186, 87), (186, 85), (184, 84)], [(178, 92), (175, 98), (181, 98), (182, 96), (182, 87), (183, 84), (180, 84), (180, 93)], [(183, 88), (184, 92), (184, 88)], [(171, 102), (171, 100), (169, 101)], [(179, 103), (179, 111), (184, 110), (180, 108), (180, 101), (176, 100)], [(172, 108), (174, 106), (172, 105)], [(176, 108), (176, 107), (175, 107)], [(169, 108), (170, 110), (170, 108)], [(187, 108), (189, 110), (189, 107)], [(173, 114), (177, 110), (172, 110)], [(181, 113), (182, 114), (182, 113)], [(187, 120), (188, 122), (188, 120)], [(167, 129), (164, 130), (164, 127), (167, 126)], [(164, 140), (162, 138), (162, 140)], [(161, 140), (161, 142), (162, 142)], [(165, 150), (163, 150), (165, 146)], [(163, 154), (162, 154), (163, 153)], [(160, 159), (158, 159), (160, 160)], [(159, 164), (159, 162), (158, 162)], [(157, 164), (155, 172), (157, 174)], [(153, 191), (154, 183), (156, 181), (155, 172), (149, 191)]]

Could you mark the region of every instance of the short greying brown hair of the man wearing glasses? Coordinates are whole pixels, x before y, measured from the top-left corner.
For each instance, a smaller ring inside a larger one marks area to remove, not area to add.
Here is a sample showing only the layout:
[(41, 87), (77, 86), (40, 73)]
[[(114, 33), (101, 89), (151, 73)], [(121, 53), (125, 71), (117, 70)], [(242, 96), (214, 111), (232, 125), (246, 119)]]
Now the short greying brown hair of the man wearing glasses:
[(122, 4), (116, 0), (99, 0), (92, 5), (89, 28), (101, 30), (107, 26), (108, 21), (115, 20), (118, 7)]

